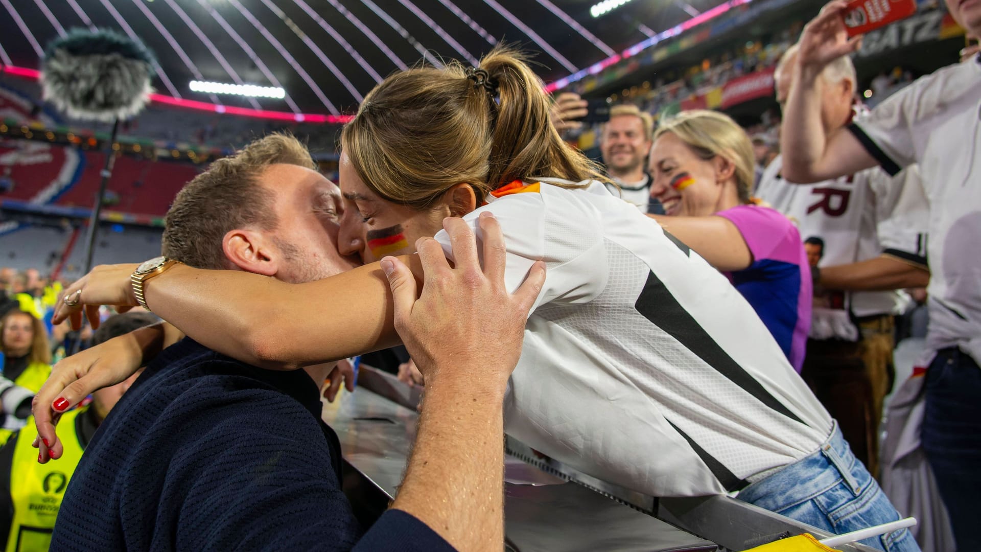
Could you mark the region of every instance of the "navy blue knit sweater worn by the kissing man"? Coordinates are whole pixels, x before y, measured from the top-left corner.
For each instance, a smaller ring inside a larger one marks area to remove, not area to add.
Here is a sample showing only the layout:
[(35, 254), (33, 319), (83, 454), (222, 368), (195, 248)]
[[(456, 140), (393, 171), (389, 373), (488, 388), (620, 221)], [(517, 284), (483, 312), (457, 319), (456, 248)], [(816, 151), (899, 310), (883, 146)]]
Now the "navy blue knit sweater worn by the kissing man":
[(396, 510), (362, 535), (320, 413), (304, 371), (256, 368), (184, 339), (85, 449), (51, 550), (452, 550)]

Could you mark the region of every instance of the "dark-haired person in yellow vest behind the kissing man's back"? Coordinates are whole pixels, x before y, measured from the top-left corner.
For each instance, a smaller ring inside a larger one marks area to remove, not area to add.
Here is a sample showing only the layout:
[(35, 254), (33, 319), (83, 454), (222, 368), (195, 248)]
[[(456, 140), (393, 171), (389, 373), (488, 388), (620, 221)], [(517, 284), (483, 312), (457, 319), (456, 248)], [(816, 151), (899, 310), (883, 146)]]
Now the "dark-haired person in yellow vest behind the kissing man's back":
[[(145, 311), (117, 314), (99, 327), (92, 341), (98, 345), (159, 321)], [(37, 437), (32, 420), (0, 448), (0, 535), (8, 535), (8, 550), (48, 549), (62, 497), (82, 451), (141, 372), (92, 392), (91, 403), (62, 416), (60, 426), (66, 431), (66, 438), (62, 439), (64, 451), (57, 465), (37, 463), (37, 450), (30, 446)]]

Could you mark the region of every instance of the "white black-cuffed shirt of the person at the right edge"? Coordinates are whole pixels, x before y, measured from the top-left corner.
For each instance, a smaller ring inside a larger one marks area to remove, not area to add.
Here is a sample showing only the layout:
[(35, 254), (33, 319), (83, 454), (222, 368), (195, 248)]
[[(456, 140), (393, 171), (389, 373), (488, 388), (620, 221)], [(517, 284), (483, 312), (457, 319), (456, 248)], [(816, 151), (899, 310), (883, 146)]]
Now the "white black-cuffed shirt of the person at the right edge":
[(919, 164), (930, 204), (927, 346), (981, 362), (981, 55), (909, 84), (850, 130), (890, 174)]

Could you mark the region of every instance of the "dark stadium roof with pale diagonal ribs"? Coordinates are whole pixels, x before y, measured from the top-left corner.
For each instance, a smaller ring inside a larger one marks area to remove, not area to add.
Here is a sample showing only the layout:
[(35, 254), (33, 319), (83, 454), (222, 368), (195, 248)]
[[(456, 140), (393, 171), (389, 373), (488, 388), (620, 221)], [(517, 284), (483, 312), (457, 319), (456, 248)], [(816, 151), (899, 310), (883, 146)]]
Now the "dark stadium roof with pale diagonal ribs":
[[(545, 82), (560, 82), (725, 3), (643, 0), (593, 18), (591, 0), (0, 0), (0, 63), (36, 70), (48, 41), (70, 28), (112, 28), (155, 52), (154, 87), (187, 106), (340, 115), (423, 59), (473, 64), (516, 43), (538, 52)], [(191, 81), (285, 95), (198, 92)]]

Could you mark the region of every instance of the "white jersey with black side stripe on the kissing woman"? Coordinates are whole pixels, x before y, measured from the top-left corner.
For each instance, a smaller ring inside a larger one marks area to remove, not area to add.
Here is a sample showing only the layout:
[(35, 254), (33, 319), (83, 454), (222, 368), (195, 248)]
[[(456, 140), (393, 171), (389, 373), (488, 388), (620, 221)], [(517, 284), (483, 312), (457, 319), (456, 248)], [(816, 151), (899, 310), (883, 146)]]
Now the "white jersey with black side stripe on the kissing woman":
[(500, 221), (509, 289), (547, 265), (508, 434), (654, 496), (737, 489), (816, 451), (831, 417), (749, 303), (636, 207), (582, 185), (528, 186), (465, 217), (478, 237), (481, 211)]

